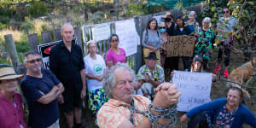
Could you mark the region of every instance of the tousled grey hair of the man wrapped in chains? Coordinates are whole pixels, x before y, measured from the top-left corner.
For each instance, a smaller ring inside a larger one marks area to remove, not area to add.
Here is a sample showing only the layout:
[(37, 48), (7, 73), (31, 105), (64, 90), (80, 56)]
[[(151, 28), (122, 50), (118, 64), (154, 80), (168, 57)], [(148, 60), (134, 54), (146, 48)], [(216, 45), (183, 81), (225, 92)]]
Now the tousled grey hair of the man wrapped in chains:
[(103, 90), (106, 91), (107, 96), (109, 98), (113, 98), (112, 90), (113, 90), (113, 87), (116, 84), (116, 78), (114, 76), (114, 71), (117, 70), (117, 69), (124, 69), (124, 70), (129, 71), (131, 73), (133, 85), (136, 85), (136, 82), (137, 82), (136, 75), (135, 75), (134, 71), (127, 64), (120, 63), (120, 62), (116, 63), (115, 66), (111, 67), (108, 70), (108, 72), (104, 76), (104, 79), (102, 80)]

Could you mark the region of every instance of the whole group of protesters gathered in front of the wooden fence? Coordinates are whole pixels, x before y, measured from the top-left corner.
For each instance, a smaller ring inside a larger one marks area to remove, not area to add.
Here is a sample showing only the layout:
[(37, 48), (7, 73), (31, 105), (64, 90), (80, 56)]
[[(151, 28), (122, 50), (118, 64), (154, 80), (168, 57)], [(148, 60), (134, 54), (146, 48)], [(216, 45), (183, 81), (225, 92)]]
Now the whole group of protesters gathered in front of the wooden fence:
[[(59, 128), (59, 107), (64, 108), (69, 128), (81, 128), (84, 97), (86, 108), (96, 115), (96, 125), (101, 128), (171, 127), (177, 122), (177, 103), (182, 93), (177, 85), (166, 82), (165, 74), (174, 75), (179, 70), (179, 56), (166, 56), (168, 37), (195, 36), (193, 56), (181, 56), (183, 71), (205, 73), (211, 60), (215, 38), (231, 32), (219, 45), (218, 61), (229, 65), (230, 49), (234, 44), (232, 32), (237, 21), (224, 8), (219, 19), (218, 33), (212, 32), (211, 19), (195, 20), (195, 11), (189, 20), (167, 12), (164, 22), (148, 21), (143, 31), (142, 45), (145, 64), (136, 74), (126, 62), (125, 49), (119, 48), (119, 36), (112, 34), (108, 40), (110, 49), (105, 56), (97, 54), (97, 43), (86, 44), (89, 54), (73, 42), (74, 30), (70, 23), (61, 26), (62, 40), (50, 50), (49, 68), (41, 69), (42, 57), (31, 51), (24, 55), (25, 75), (17, 75), (11, 67), (0, 69), (0, 127), (1, 128)], [(229, 24), (227, 22), (230, 22)], [(227, 26), (221, 26), (226, 24)], [(220, 65), (214, 70), (220, 69)], [(166, 73), (165, 73), (166, 72)], [(228, 77), (225, 70), (224, 76)], [(21, 79), (21, 80), (20, 80)], [(15, 90), (20, 89), (28, 107), (28, 124), (24, 120), (22, 98)], [(212, 75), (212, 82), (216, 75)], [(207, 102), (185, 113), (179, 122), (189, 119), (188, 127), (241, 127), (248, 124), (256, 128), (255, 115), (242, 104), (247, 92), (240, 86), (231, 86), (226, 98)]]

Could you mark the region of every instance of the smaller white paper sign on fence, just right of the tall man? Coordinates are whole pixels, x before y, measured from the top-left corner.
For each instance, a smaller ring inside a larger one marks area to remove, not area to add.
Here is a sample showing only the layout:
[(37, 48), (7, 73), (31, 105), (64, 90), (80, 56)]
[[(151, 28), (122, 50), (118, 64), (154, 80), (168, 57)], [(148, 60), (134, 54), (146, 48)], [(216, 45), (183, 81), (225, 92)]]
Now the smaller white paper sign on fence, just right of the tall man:
[(92, 37), (96, 42), (108, 39), (110, 34), (110, 23), (96, 24), (95, 27), (92, 28)]

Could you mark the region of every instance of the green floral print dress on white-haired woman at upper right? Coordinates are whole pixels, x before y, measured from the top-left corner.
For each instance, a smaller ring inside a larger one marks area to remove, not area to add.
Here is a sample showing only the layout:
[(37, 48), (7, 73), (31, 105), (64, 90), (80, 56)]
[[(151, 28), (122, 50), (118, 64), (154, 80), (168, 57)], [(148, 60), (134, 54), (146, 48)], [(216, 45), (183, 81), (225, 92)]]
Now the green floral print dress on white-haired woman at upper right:
[(204, 31), (202, 27), (199, 27), (197, 32), (199, 36), (195, 44), (194, 55), (201, 55), (204, 61), (208, 61), (211, 59), (215, 34), (211, 29)]

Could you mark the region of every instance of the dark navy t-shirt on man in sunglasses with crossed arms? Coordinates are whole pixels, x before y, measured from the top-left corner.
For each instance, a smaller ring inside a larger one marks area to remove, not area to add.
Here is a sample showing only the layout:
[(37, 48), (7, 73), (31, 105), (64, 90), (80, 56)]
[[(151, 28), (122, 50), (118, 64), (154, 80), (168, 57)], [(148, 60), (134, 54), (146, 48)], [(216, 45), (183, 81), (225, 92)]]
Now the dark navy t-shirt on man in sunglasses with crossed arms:
[(60, 84), (60, 81), (49, 70), (42, 70), (42, 73), (43, 78), (26, 75), (20, 83), (23, 95), (26, 97), (29, 125), (32, 128), (48, 127), (60, 117), (56, 99), (49, 104), (37, 102), (38, 99), (49, 93), (54, 85)]

